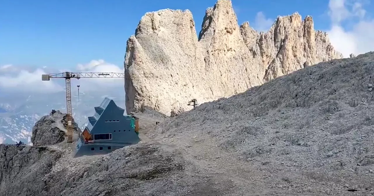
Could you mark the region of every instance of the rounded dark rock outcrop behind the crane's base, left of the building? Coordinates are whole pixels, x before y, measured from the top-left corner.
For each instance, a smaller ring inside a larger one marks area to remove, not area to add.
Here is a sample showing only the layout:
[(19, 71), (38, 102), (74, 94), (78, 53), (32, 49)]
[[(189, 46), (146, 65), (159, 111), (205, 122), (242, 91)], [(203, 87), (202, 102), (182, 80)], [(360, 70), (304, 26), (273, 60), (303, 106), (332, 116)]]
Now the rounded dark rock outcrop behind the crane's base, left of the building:
[[(64, 141), (67, 128), (66, 118), (66, 114), (54, 110), (49, 115), (40, 118), (33, 127), (31, 136), (33, 146), (53, 145)], [(76, 132), (80, 132), (74, 119), (73, 126)]]

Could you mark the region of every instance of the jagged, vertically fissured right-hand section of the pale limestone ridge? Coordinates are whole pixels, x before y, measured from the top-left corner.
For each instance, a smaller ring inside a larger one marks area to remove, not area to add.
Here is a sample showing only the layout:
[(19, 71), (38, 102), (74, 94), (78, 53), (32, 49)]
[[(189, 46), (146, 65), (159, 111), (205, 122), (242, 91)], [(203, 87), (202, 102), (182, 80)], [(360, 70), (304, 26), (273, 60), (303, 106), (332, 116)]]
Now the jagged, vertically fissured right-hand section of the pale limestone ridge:
[(341, 59), (326, 33), (314, 30), (313, 19), (300, 14), (278, 17), (270, 30), (260, 34), (261, 59), (266, 68), (264, 81), (289, 74), (322, 61)]

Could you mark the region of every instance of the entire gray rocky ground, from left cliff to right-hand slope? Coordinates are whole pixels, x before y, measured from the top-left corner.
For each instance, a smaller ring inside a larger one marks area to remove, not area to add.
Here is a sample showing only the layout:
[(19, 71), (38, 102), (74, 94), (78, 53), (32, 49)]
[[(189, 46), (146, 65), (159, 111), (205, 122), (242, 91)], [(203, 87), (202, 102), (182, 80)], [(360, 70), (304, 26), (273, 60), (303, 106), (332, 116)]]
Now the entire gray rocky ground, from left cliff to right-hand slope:
[(0, 195), (374, 195), (373, 74), (374, 52), (308, 66), (104, 156), (2, 144)]

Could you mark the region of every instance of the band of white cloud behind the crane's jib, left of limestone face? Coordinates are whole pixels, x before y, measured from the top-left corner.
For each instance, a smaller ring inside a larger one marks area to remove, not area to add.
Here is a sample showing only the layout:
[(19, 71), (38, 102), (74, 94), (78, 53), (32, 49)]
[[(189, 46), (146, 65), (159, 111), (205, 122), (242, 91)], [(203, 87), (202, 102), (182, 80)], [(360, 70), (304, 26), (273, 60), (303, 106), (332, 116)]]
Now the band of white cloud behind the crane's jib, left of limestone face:
[[(106, 63), (104, 60), (92, 60), (87, 64), (78, 64), (73, 70), (59, 70), (54, 73), (71, 72), (116, 72), (123, 73), (119, 66)], [(48, 72), (49, 73), (49, 72)], [(0, 89), (22, 92), (56, 92), (65, 90), (63, 78), (51, 78), (50, 81), (42, 81), (42, 74), (46, 73), (46, 67), (33, 71), (14, 65), (0, 66)], [(102, 88), (122, 87), (123, 78), (81, 78), (71, 79), (71, 86), (80, 85), (82, 90), (100, 90)]]

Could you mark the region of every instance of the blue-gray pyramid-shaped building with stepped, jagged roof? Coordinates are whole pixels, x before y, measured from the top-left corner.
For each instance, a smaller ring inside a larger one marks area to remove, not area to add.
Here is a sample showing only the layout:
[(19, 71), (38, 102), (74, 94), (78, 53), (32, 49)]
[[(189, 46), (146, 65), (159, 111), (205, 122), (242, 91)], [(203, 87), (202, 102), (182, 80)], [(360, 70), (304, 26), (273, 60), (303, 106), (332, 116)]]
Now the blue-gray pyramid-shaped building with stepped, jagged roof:
[(105, 99), (88, 117), (88, 125), (77, 141), (74, 157), (107, 154), (140, 141), (135, 131), (135, 118), (124, 116), (124, 109)]

